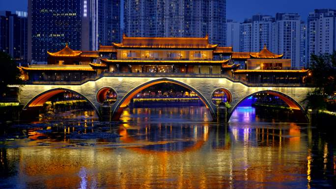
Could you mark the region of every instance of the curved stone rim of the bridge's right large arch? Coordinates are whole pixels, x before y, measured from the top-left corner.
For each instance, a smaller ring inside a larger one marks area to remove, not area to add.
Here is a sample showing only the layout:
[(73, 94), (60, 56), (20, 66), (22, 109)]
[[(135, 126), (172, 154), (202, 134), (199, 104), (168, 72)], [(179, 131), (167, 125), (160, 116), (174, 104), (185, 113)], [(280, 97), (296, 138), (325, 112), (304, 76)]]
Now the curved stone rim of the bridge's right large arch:
[(308, 116), (305, 112), (305, 109), (296, 101), (294, 100), (293, 98), (291, 98), (290, 96), (282, 93), (282, 92), (279, 92), (279, 91), (275, 91), (275, 90), (261, 90), (261, 91), (257, 91), (257, 92), (254, 92), (248, 96), (246, 96), (245, 98), (243, 98), (242, 100), (240, 100), (233, 108), (232, 110), (230, 111), (230, 113), (228, 114), (228, 117), (227, 117), (227, 120), (230, 120), (231, 118), (231, 115), (232, 113), (234, 112), (234, 110), (236, 110), (236, 108), (241, 104), (241, 102), (243, 102), (244, 100), (250, 98), (251, 96), (255, 95), (255, 94), (258, 94), (258, 93), (268, 93), (268, 94), (271, 94), (271, 95), (274, 95), (276, 97), (279, 97), (283, 102), (285, 102), (289, 108), (292, 108), (292, 109), (297, 109), (297, 110), (301, 110), (302, 113), (304, 114), (305, 118), (307, 119), (307, 121), (309, 120), (308, 119)]

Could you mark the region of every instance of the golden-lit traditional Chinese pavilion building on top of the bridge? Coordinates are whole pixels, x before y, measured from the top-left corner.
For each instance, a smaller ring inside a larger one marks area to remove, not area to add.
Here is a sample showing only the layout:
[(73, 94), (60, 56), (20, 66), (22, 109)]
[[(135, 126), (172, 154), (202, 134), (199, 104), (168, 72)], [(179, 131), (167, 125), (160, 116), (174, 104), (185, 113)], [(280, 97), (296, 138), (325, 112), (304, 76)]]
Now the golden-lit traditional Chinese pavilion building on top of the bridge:
[[(209, 43), (208, 36), (191, 37), (127, 37), (112, 46), (100, 46), (98, 51), (62, 50), (48, 53), (48, 65), (22, 67), (30, 81), (81, 81), (101, 74), (108, 75), (177, 75), (181, 77), (234, 77), (246, 80), (251, 75), (286, 75), (303, 82), (307, 71), (291, 69), (290, 59), (274, 54), (266, 46), (260, 52), (233, 52), (231, 47)], [(247, 67), (239, 70), (239, 63)], [(64, 74), (65, 73), (65, 74)], [(243, 73), (243, 77), (240, 75)], [(75, 75), (71, 78), (70, 75)], [(280, 76), (278, 78), (281, 78)], [(288, 77), (288, 76), (286, 76)], [(243, 79), (247, 78), (247, 79)], [(253, 80), (254, 81), (254, 80)], [(287, 82), (288, 80), (261, 80)]]

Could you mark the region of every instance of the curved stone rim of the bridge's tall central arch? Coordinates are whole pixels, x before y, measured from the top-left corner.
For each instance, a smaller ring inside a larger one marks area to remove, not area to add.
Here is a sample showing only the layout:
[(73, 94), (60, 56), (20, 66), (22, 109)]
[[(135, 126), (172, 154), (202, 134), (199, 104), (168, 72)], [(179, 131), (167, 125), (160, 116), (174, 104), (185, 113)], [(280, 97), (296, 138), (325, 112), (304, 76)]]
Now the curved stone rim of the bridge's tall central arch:
[(114, 108), (113, 114), (112, 114), (112, 119), (113, 120), (118, 120), (120, 118), (120, 115), (122, 113), (123, 108), (125, 108), (128, 103), (131, 101), (131, 99), (138, 94), (141, 90), (150, 87), (152, 85), (155, 84), (159, 84), (159, 83), (163, 83), (163, 82), (169, 82), (169, 83), (174, 83), (180, 86), (183, 86), (189, 90), (194, 91), (198, 98), (204, 103), (204, 105), (206, 106), (206, 108), (208, 108), (210, 110), (211, 116), (212, 118), (215, 120), (216, 119), (216, 114), (214, 109), (212, 108), (211, 104), (206, 100), (206, 98), (204, 98), (204, 96), (198, 91), (196, 90), (194, 87), (190, 86), (189, 84), (183, 83), (181, 81), (176, 81), (176, 80), (172, 80), (172, 79), (168, 79), (168, 78), (161, 78), (161, 79), (157, 79), (157, 80), (152, 80), (152, 81), (148, 81), (145, 82), (137, 87), (135, 87), (134, 89), (132, 89), (131, 91), (129, 91), (122, 99), (121, 101), (117, 104), (117, 106)]

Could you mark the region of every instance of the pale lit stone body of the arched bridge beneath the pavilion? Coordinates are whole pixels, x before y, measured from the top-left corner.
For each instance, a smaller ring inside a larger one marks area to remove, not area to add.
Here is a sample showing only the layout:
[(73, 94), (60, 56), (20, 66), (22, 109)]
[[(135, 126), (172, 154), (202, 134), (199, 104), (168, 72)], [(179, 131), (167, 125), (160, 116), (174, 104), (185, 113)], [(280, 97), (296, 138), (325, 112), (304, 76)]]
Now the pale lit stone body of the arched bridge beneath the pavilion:
[(230, 96), (232, 95), (230, 103), (232, 108), (229, 110), (228, 116), (231, 115), (241, 101), (261, 91), (278, 96), (290, 108), (304, 110), (305, 105), (302, 101), (309, 90), (308, 87), (298, 87), (288, 84), (282, 86), (250, 86), (223, 77), (157, 78), (133, 75), (133, 77), (102, 77), (96, 81), (87, 81), (82, 84), (28, 84), (20, 87), (20, 100), (21, 104), (25, 106), (24, 109), (29, 109), (42, 106), (48, 99), (66, 90), (83, 95), (99, 113), (98, 109), (101, 104), (97, 101), (97, 92), (101, 88), (111, 87), (118, 95), (116, 103), (112, 106), (112, 116), (113, 119), (118, 119), (120, 112), (127, 106), (133, 96), (151, 85), (163, 82), (175, 83), (196, 92), (198, 97), (210, 110), (213, 118), (216, 118), (216, 105), (212, 103), (211, 95), (218, 88), (224, 88), (227, 93), (231, 93), (229, 94)]

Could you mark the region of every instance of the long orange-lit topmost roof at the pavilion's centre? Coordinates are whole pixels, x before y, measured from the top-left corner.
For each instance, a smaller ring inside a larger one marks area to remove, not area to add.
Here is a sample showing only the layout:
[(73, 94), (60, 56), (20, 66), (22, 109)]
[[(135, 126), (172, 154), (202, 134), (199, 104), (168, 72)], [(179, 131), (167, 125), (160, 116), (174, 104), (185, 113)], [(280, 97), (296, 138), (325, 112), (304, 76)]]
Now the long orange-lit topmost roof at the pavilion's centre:
[(197, 37), (126, 37), (121, 43), (113, 43), (117, 48), (159, 48), (159, 49), (214, 49), (218, 45), (209, 44), (208, 36)]

